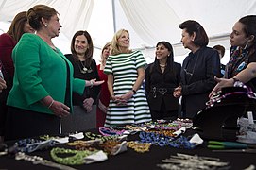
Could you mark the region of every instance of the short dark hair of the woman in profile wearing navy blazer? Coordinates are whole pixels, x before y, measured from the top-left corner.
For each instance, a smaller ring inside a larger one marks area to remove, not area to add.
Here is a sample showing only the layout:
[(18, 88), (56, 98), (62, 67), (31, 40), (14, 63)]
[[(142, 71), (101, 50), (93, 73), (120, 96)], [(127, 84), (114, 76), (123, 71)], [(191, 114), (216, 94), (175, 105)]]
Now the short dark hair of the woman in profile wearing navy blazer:
[(196, 33), (194, 43), (196, 46), (206, 46), (209, 43), (209, 38), (203, 28), (198, 22), (194, 20), (187, 20), (179, 25), (180, 29), (186, 29), (186, 32), (191, 36)]

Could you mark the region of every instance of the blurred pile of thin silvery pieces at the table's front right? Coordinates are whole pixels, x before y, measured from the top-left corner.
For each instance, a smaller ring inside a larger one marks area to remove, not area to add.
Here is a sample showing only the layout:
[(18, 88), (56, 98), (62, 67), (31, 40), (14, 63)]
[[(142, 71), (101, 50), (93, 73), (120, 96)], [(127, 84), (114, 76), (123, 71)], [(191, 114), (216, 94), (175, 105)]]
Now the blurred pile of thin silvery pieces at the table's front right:
[(169, 159), (162, 160), (164, 164), (158, 164), (165, 170), (172, 169), (230, 169), (230, 163), (220, 161), (211, 157), (199, 157), (197, 155), (191, 156), (186, 154), (177, 154), (177, 156), (171, 156)]

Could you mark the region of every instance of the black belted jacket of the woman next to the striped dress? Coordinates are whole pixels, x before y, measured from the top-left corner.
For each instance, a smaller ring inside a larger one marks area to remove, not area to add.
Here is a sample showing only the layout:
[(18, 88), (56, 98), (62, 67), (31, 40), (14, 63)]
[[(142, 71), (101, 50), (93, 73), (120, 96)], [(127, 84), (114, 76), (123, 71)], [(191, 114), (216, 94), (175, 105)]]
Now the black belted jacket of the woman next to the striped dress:
[[(155, 63), (155, 64), (154, 64)], [(173, 96), (173, 90), (179, 86), (181, 64), (174, 62), (173, 71), (168, 64), (162, 73), (158, 61), (148, 65), (145, 70), (145, 93), (150, 110), (161, 110), (162, 102), (165, 103), (166, 110), (179, 110), (179, 99)], [(154, 93), (152, 89), (166, 88), (167, 93)]]

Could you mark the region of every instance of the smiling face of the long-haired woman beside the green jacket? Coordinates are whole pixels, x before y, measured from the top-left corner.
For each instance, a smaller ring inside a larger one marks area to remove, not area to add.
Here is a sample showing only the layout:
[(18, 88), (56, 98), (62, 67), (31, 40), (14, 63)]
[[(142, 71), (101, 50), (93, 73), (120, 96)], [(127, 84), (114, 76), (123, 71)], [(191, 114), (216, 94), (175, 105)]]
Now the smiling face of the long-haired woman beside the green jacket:
[(88, 41), (84, 35), (78, 35), (75, 39), (74, 49), (77, 55), (84, 55), (89, 48)]

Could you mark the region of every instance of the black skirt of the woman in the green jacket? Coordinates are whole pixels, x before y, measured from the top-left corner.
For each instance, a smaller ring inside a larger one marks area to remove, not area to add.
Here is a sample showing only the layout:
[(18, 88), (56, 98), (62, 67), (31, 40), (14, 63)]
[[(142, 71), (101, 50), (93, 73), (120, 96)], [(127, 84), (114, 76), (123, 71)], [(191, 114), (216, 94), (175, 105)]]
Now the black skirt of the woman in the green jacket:
[(58, 116), (15, 107), (8, 108), (5, 141), (59, 134)]

